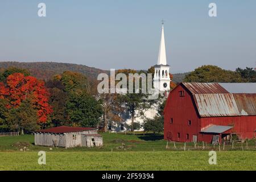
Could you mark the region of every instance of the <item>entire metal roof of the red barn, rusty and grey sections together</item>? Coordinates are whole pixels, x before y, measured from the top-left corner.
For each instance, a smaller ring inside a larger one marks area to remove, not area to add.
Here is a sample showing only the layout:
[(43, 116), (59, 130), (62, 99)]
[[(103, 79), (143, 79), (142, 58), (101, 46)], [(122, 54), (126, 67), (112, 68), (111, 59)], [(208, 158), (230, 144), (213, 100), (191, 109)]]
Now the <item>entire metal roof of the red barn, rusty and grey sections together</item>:
[(200, 117), (256, 115), (256, 83), (182, 84), (192, 93)]

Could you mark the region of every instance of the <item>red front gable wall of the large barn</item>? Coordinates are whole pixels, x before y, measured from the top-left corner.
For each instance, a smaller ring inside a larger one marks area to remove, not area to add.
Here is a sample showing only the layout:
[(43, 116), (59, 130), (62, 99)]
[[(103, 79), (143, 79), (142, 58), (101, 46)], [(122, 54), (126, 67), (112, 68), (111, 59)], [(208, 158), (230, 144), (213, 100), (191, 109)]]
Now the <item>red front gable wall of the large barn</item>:
[[(180, 97), (180, 92), (184, 92), (184, 97)], [(191, 97), (192, 94), (180, 85), (170, 92), (164, 109), (164, 139), (191, 142), (193, 135), (197, 136), (200, 130), (197, 125), (199, 118)], [(173, 123), (171, 123), (171, 119)], [(191, 121), (190, 126), (188, 126), (189, 120)]]

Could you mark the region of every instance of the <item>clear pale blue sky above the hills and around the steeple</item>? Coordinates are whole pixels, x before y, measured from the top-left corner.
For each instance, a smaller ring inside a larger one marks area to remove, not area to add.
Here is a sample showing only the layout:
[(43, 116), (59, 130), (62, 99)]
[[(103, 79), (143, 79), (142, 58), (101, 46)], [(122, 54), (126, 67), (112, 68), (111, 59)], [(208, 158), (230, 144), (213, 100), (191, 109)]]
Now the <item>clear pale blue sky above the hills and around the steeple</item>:
[(162, 18), (172, 73), (256, 67), (255, 0), (1, 0), (0, 60), (147, 69), (157, 63)]

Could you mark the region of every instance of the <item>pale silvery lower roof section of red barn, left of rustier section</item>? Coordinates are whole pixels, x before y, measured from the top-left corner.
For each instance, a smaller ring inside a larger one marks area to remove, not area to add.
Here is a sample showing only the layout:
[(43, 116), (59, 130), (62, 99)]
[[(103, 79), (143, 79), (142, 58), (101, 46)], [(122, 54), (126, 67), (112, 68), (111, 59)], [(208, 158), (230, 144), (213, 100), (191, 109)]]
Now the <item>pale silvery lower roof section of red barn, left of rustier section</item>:
[(201, 117), (240, 115), (233, 94), (194, 94), (193, 97)]

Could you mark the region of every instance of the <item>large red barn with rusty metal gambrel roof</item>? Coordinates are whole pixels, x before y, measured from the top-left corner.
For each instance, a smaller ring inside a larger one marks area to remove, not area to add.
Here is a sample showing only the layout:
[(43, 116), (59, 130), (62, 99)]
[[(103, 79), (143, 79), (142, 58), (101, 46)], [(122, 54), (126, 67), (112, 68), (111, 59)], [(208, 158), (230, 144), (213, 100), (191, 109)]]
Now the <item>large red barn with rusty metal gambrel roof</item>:
[(164, 108), (164, 139), (212, 142), (256, 137), (256, 83), (187, 83)]

